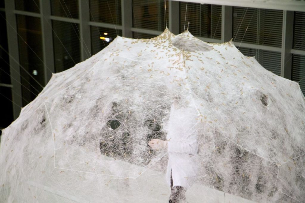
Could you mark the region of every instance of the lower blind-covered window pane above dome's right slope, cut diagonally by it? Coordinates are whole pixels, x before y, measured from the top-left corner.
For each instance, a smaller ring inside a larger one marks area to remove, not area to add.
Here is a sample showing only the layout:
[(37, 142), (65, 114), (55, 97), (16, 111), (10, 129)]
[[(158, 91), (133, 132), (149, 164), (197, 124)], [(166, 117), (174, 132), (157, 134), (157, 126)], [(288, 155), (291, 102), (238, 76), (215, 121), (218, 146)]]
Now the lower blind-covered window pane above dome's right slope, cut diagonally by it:
[(245, 56), (255, 56), (256, 60), (268, 71), (281, 75), (281, 53), (260, 49), (239, 47), (239, 51)]

